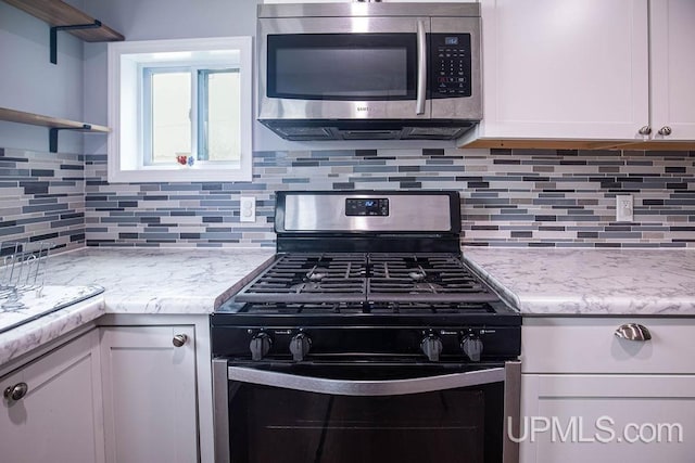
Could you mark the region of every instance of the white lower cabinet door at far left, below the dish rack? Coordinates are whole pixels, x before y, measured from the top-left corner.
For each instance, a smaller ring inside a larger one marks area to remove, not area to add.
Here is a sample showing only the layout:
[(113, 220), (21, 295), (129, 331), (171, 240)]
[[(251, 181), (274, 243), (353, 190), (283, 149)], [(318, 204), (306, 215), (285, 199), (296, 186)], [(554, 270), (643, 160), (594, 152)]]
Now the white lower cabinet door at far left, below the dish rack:
[(99, 335), (94, 330), (0, 378), (0, 461), (103, 462)]

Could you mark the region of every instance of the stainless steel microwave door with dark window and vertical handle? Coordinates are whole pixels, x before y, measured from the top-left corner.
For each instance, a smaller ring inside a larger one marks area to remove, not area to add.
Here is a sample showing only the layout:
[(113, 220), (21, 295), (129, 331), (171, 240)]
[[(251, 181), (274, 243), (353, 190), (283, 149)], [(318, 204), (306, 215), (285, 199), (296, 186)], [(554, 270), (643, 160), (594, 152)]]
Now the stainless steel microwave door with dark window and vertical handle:
[(429, 18), (258, 20), (260, 119), (428, 119)]

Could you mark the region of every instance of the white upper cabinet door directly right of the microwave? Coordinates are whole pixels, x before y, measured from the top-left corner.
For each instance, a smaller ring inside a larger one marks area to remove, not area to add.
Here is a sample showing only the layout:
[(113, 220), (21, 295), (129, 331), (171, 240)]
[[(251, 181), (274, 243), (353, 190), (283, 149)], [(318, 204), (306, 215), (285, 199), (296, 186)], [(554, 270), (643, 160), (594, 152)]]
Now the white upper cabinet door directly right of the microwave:
[(481, 4), (484, 111), (479, 136), (639, 137), (649, 111), (647, 0)]

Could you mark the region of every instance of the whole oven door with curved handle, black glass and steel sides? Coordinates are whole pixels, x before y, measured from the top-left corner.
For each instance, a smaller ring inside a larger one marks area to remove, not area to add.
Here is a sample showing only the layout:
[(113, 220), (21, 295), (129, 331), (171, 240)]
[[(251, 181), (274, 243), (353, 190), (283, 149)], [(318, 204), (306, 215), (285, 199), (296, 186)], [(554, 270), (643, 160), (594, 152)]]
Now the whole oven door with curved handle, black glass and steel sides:
[(215, 461), (516, 463), (520, 371), (215, 359)]

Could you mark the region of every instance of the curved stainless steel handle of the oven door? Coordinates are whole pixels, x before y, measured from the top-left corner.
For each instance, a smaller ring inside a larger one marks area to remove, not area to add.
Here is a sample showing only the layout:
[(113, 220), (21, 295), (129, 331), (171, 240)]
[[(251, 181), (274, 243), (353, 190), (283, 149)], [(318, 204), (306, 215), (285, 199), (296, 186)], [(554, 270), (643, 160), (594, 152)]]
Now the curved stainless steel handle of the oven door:
[(306, 393), (333, 396), (401, 396), (405, 394), (433, 393), (459, 387), (500, 383), (505, 380), (504, 368), (492, 368), (466, 373), (390, 381), (327, 380), (300, 376), (267, 370), (229, 366), (230, 381), (280, 387)]

